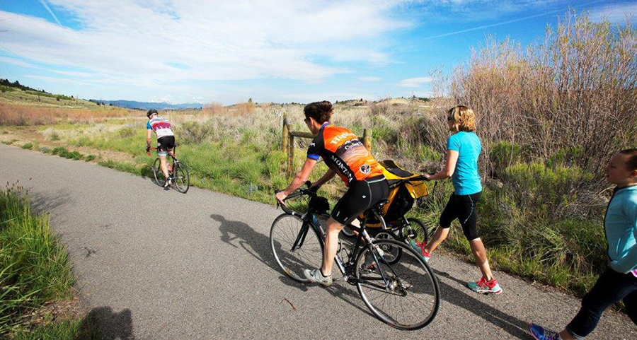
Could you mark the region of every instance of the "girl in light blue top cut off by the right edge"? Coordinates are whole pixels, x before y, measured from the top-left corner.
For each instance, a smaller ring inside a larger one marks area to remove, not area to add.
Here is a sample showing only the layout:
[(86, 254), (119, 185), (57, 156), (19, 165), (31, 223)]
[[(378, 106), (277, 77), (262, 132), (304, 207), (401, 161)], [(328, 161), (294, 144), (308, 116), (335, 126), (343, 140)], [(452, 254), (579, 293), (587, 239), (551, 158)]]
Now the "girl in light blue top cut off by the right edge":
[(609, 266), (582, 299), (578, 315), (562, 332), (531, 323), (535, 339), (584, 339), (597, 327), (604, 310), (619, 300), (624, 301), (626, 312), (637, 324), (637, 148), (620, 151), (611, 158), (606, 180), (616, 184), (604, 216)]

